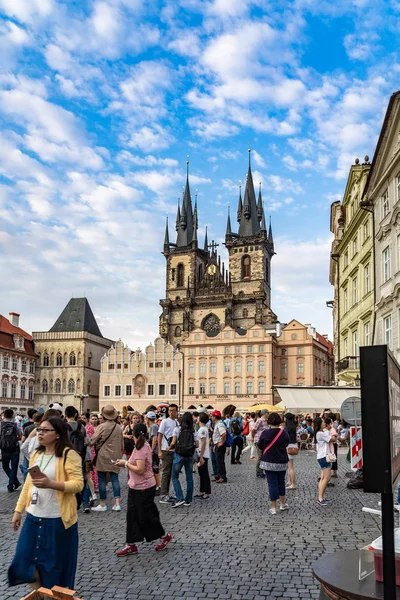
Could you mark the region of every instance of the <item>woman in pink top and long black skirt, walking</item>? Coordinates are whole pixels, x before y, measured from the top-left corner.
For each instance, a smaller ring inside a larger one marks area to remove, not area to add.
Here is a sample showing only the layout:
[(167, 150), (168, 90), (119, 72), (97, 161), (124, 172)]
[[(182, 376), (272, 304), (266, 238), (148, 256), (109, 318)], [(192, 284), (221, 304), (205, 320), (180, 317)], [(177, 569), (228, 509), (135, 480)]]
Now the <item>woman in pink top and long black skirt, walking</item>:
[(138, 552), (137, 543), (160, 539), (155, 550), (165, 550), (172, 535), (165, 531), (160, 522), (160, 514), (154, 502), (156, 480), (153, 473), (152, 450), (146, 442), (147, 427), (137, 423), (133, 427), (135, 449), (129, 461), (117, 460), (118, 467), (128, 470), (128, 507), (126, 515), (126, 544), (118, 550), (117, 556), (124, 557)]

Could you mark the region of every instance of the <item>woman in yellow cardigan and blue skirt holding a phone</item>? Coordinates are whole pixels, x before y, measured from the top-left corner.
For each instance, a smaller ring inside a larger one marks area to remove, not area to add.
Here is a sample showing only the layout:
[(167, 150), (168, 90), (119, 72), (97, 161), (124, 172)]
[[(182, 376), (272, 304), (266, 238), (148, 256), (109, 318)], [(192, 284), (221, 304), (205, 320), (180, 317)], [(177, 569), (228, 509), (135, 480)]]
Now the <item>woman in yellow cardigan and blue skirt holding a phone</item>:
[(26, 510), (8, 583), (73, 589), (78, 559), (75, 494), (84, 485), (82, 459), (72, 449), (61, 418), (49, 417), (36, 431), (39, 447), (30, 459), (30, 472), (12, 519), (17, 531)]

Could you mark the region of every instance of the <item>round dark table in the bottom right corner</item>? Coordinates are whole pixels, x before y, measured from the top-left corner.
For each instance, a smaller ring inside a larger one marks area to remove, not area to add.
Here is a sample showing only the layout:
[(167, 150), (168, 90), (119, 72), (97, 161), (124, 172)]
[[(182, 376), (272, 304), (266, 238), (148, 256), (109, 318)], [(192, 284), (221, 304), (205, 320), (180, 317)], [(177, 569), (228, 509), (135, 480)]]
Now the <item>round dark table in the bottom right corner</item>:
[[(313, 574), (321, 582), (325, 598), (331, 600), (384, 600), (383, 583), (376, 581), (375, 573), (362, 581), (358, 579), (358, 550), (326, 554), (313, 565)], [(400, 600), (400, 587), (396, 588)]]

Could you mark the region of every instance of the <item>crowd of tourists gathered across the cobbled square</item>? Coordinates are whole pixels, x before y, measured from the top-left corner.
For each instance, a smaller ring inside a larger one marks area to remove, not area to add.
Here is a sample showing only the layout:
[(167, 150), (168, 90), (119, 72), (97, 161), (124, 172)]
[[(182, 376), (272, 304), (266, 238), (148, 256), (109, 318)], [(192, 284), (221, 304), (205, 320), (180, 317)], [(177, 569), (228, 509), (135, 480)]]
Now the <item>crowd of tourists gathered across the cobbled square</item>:
[(210, 501), (212, 484), (228, 482), (226, 461), (242, 464), (246, 453), (255, 462), (254, 476), (266, 479), (270, 514), (277, 514), (278, 501), (279, 511), (287, 511), (286, 492), (297, 487), (295, 457), (305, 435), (315, 444), (321, 469), (317, 502), (326, 506), (326, 488), (337, 476), (337, 446), (347, 435), (334, 414), (283, 418), (267, 410), (242, 415), (234, 407), (224, 414), (203, 407), (179, 414), (176, 404), (165, 403), (122, 416), (112, 405), (99, 414), (79, 414), (73, 406), (53, 404), (45, 413), (29, 410), (24, 422), (5, 410), (0, 450), (7, 489), (13, 493), (22, 486), (12, 518), (15, 531), (27, 513), (9, 584), (74, 587), (78, 510), (106, 512), (112, 492), (110, 508), (120, 512), (121, 469), (127, 473), (128, 497), (125, 545), (118, 557), (137, 553), (143, 541), (157, 541), (155, 550), (165, 550), (172, 535), (157, 504), (180, 509)]

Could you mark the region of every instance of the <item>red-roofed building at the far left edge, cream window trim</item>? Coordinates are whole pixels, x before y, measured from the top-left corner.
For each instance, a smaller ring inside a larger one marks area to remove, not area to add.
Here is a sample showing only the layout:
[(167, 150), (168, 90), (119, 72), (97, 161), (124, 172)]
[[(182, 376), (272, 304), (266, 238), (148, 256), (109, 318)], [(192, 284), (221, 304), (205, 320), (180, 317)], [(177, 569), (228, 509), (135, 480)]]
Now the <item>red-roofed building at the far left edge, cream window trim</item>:
[(34, 403), (37, 355), (32, 336), (19, 326), (20, 315), (0, 315), (0, 412), (24, 414)]

